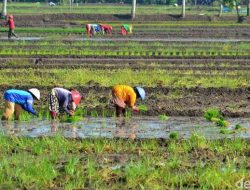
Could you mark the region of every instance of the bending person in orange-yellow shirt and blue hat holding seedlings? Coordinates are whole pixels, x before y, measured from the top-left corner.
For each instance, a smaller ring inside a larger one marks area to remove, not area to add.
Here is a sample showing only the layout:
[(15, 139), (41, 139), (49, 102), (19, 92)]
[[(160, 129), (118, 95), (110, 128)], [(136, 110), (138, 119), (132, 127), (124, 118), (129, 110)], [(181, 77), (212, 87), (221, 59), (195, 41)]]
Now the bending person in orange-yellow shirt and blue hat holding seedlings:
[(145, 99), (145, 91), (142, 87), (130, 87), (127, 85), (116, 85), (112, 89), (111, 103), (115, 105), (116, 116), (120, 117), (122, 114), (125, 116), (127, 107), (138, 112), (139, 108), (135, 105), (136, 100), (141, 98)]

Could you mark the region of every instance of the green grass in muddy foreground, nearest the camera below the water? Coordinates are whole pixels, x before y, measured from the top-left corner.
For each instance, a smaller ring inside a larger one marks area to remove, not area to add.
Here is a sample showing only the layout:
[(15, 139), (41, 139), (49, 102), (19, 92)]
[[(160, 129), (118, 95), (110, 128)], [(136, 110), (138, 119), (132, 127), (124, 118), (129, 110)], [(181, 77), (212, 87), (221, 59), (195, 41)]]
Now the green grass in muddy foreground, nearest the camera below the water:
[(1, 136), (0, 188), (234, 189), (250, 180), (249, 148), (241, 139), (197, 134), (166, 143)]

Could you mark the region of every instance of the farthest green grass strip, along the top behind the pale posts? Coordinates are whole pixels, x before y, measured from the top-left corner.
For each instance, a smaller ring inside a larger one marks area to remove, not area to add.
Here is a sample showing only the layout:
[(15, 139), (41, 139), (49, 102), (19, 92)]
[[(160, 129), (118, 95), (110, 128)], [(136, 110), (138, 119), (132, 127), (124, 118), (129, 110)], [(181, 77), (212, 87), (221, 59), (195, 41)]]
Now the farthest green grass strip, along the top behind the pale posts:
[[(83, 14), (130, 14), (131, 5), (129, 4), (76, 4), (69, 8), (68, 4), (60, 6), (48, 6), (43, 3), (8, 3), (8, 12), (12, 14), (51, 14), (51, 13), (83, 13)], [(166, 5), (137, 5), (136, 14), (181, 14), (181, 6)], [(218, 15), (219, 6), (189, 6), (186, 7), (186, 14), (206, 14)], [(235, 15), (235, 12), (223, 13)]]

